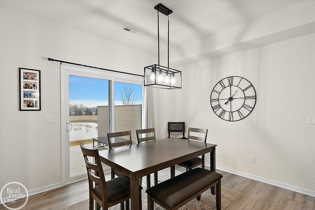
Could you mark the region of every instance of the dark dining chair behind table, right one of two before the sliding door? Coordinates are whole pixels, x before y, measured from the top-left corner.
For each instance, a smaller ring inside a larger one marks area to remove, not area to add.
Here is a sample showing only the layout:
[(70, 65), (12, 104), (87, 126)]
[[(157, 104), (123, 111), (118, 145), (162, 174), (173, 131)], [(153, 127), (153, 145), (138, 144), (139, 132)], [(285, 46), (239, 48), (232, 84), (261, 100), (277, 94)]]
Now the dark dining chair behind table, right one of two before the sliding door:
[[(156, 134), (154, 128), (136, 130), (138, 144), (156, 141)], [(147, 175), (147, 188), (151, 187), (150, 174)], [(154, 172), (154, 185), (158, 184), (158, 172)]]

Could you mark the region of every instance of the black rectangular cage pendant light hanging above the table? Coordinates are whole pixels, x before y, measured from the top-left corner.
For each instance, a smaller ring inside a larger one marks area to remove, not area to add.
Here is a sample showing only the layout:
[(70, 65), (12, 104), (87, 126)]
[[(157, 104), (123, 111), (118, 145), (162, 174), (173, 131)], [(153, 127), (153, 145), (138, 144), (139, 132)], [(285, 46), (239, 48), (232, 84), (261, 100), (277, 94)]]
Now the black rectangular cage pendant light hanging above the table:
[[(182, 88), (182, 72), (169, 68), (169, 15), (173, 13), (162, 4), (154, 7), (158, 10), (158, 64), (144, 67), (144, 86), (162, 89)], [(167, 16), (167, 67), (159, 64), (159, 13)]]

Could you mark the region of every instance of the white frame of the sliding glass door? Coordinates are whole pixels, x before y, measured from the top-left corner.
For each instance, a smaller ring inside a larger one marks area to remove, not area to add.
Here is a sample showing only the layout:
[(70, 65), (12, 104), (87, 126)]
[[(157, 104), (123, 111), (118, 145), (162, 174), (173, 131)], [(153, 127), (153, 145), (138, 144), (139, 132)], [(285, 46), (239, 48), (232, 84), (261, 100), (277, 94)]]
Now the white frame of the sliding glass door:
[[(69, 121), (69, 75), (105, 79), (109, 81), (108, 106), (110, 109), (110, 130), (115, 129), (114, 114), (114, 82), (124, 82), (143, 85), (143, 77), (124, 74), (119, 72), (106, 71), (91, 67), (77, 66), (72, 64), (60, 64), (60, 86), (61, 86), (61, 172), (62, 185), (70, 184), (79, 180), (87, 179), (87, 175), (70, 178), (70, 159), (69, 159), (69, 134), (66, 131), (66, 122)], [(142, 101), (143, 101), (142, 91)]]

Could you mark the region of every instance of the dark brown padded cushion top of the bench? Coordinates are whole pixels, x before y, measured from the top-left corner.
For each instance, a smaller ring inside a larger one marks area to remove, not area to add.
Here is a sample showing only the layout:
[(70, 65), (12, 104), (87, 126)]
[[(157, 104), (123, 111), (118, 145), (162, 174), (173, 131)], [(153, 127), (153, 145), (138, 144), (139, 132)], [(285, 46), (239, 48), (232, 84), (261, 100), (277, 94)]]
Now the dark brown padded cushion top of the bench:
[(174, 208), (221, 178), (222, 175), (216, 172), (195, 168), (163, 181), (146, 192), (169, 208)]

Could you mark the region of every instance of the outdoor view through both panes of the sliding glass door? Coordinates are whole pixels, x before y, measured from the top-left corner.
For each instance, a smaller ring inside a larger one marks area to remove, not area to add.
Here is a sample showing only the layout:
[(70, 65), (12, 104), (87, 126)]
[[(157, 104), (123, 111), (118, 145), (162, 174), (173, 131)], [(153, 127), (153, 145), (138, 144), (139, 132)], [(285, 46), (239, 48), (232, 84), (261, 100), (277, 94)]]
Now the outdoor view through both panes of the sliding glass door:
[[(132, 141), (137, 142), (135, 130), (141, 129), (142, 121), (142, 85), (114, 82), (113, 88), (114, 95), (110, 96), (109, 80), (69, 75), (70, 177), (86, 173), (80, 142), (92, 148), (92, 138), (107, 136), (110, 130), (131, 130)], [(113, 125), (109, 124), (113, 121), (109, 119), (110, 97), (114, 101)]]

